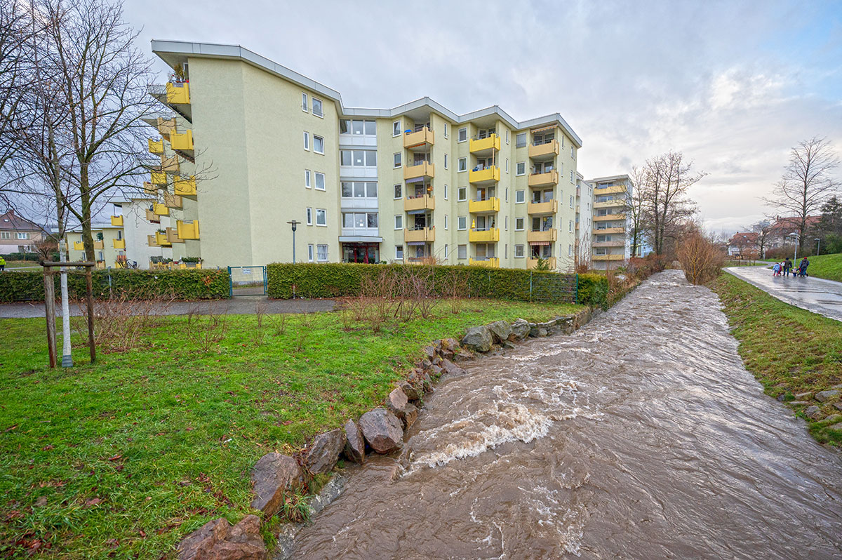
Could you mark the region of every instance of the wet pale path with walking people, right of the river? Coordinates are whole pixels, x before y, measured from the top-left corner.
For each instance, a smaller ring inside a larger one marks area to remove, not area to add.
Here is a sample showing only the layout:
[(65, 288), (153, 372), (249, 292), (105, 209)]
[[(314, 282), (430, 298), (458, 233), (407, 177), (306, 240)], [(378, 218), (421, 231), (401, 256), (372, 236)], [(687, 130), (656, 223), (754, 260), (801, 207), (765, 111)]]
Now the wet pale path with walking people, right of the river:
[(842, 282), (813, 276), (773, 276), (766, 266), (733, 266), (725, 271), (781, 301), (842, 321)]

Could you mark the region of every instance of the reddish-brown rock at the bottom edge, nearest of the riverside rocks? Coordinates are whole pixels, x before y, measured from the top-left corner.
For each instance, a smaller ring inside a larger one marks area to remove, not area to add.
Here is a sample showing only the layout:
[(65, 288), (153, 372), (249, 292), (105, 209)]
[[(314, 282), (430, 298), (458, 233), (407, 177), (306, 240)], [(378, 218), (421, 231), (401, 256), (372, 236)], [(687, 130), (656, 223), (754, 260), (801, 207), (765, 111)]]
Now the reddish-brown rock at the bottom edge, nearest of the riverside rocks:
[(179, 544), (179, 560), (265, 560), (257, 515), (246, 515), (237, 525), (219, 518), (208, 521)]

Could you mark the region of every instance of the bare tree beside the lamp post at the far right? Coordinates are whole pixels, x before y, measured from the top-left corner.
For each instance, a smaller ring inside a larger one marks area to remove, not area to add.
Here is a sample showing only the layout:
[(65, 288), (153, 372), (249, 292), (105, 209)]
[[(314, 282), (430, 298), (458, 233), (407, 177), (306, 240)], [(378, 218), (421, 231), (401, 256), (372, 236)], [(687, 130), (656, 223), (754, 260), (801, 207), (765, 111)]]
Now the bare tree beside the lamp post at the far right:
[(839, 190), (839, 181), (833, 176), (838, 166), (839, 157), (827, 139), (813, 136), (800, 141), (791, 148), (789, 164), (775, 184), (772, 197), (764, 199), (795, 217), (798, 248), (802, 251), (810, 227), (807, 217), (817, 213)]

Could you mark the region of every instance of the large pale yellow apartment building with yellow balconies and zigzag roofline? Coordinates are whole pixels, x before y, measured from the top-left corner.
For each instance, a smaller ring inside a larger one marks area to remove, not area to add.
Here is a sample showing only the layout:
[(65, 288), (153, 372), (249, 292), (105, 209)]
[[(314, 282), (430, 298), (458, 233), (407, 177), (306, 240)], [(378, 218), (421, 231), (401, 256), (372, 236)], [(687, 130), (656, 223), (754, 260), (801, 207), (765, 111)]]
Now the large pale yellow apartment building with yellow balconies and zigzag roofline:
[[(573, 266), (582, 146), (561, 115), (466, 115), (340, 94), (233, 45), (152, 41), (173, 68), (147, 122), (149, 243), (207, 266), (425, 262)], [(589, 216), (588, 216), (589, 219)]]

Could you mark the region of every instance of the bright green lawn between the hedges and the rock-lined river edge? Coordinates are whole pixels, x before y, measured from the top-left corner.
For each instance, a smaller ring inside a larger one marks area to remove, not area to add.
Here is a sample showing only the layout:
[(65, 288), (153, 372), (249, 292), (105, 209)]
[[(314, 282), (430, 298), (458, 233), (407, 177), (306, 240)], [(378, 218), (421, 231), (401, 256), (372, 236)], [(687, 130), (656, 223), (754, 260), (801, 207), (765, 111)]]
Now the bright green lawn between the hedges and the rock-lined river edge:
[(581, 308), (471, 300), (453, 314), (440, 303), (433, 319), (379, 334), (346, 329), (340, 312), (263, 317), (262, 328), (228, 316), (215, 344), (188, 317), (162, 317), (142, 348), (93, 366), (74, 335), (77, 366), (52, 371), (44, 319), (0, 320), (0, 557), (174, 557), (207, 520), (250, 513), (260, 456), (380, 404), (424, 344)]

